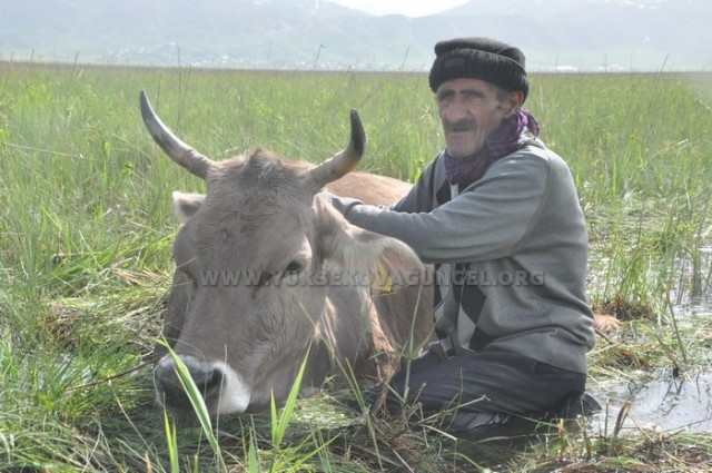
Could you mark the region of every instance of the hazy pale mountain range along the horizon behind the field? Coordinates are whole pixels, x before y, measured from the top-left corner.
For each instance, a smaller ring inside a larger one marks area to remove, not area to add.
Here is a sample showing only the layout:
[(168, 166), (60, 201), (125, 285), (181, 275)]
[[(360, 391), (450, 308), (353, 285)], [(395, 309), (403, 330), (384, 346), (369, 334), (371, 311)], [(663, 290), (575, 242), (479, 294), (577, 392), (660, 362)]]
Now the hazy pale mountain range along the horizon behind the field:
[(0, 58), (424, 70), (436, 41), (492, 36), (531, 70), (712, 69), (709, 0), (471, 0), (422, 18), (328, 0), (0, 0)]

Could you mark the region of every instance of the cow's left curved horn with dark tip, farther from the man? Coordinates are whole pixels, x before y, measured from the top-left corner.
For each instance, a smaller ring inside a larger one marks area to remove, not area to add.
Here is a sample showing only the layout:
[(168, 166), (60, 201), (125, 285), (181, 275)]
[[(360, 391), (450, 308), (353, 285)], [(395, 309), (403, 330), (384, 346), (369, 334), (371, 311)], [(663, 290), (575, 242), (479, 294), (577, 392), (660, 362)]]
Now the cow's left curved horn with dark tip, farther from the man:
[(139, 101), (141, 105), (141, 117), (144, 117), (144, 124), (146, 124), (146, 128), (148, 128), (148, 132), (154, 138), (154, 141), (160, 146), (170, 159), (188, 169), (190, 174), (205, 179), (208, 174), (208, 169), (212, 165), (210, 158), (202, 156), (196, 151), (195, 148), (186, 145), (176, 135), (174, 135), (166, 125), (164, 125), (154, 111), (151, 104), (148, 101), (145, 90), (141, 90)]

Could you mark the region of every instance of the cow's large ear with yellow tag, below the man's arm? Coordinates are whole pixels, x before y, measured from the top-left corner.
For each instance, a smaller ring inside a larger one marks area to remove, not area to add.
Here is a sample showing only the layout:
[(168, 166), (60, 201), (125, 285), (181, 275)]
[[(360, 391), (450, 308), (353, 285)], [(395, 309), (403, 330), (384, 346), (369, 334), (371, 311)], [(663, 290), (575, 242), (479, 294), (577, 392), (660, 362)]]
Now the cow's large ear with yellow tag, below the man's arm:
[(349, 224), (319, 195), (315, 209), (322, 255), (340, 266), (348, 280), (382, 290), (422, 280), (416, 278), (425, 274), (423, 263), (409, 246)]

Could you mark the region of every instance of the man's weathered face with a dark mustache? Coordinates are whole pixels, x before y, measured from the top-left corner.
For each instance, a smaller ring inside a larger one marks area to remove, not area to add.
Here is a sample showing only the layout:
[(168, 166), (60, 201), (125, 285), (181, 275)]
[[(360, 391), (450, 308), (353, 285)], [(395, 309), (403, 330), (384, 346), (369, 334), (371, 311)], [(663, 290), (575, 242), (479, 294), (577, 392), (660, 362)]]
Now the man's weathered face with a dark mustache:
[(487, 137), (515, 110), (521, 92), (502, 102), (497, 89), (479, 79), (452, 79), (435, 93), (447, 152), (454, 158), (477, 154)]

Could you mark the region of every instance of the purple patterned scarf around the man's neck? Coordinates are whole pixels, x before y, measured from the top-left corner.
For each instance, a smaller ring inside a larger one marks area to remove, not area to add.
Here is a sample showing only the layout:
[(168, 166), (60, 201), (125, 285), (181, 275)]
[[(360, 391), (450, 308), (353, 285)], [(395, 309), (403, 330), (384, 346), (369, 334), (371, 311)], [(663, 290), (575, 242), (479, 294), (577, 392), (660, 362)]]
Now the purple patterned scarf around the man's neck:
[(465, 188), (479, 179), (494, 161), (516, 150), (524, 129), (536, 138), (538, 124), (527, 110), (520, 110), (502, 121), (485, 141), (483, 149), (472, 158), (453, 158), (445, 150), (445, 175), (452, 185)]

